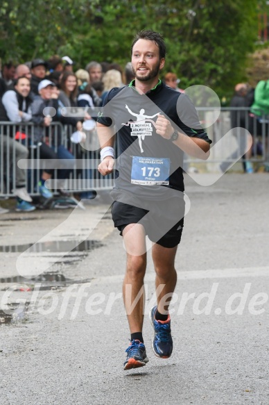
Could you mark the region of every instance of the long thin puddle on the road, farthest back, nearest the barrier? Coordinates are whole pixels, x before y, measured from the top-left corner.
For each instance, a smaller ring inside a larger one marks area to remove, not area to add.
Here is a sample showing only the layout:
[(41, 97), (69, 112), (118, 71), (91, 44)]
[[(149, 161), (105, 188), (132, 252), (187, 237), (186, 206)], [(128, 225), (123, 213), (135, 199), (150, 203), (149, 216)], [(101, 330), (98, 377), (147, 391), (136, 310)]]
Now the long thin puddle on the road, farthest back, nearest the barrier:
[[(73, 247), (73, 245), (77, 245)], [(23, 252), (29, 249), (27, 253), (40, 253), (42, 251), (91, 251), (103, 246), (98, 240), (55, 240), (51, 242), (26, 243), (25, 245), (6, 245), (0, 246), (0, 252)]]

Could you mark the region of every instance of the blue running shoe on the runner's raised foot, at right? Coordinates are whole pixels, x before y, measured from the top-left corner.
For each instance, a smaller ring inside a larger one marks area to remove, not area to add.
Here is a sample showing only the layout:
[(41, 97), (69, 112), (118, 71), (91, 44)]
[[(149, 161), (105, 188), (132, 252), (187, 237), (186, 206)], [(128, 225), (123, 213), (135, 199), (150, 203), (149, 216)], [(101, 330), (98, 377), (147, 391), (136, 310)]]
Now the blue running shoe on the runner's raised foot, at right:
[(153, 306), (150, 311), (150, 320), (154, 329), (154, 338), (152, 342), (153, 352), (155, 356), (168, 358), (173, 351), (173, 340), (171, 336), (171, 319), (168, 315), (168, 320), (155, 320), (155, 312), (157, 306)]

